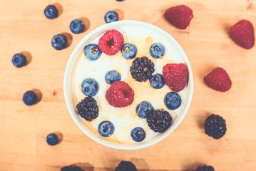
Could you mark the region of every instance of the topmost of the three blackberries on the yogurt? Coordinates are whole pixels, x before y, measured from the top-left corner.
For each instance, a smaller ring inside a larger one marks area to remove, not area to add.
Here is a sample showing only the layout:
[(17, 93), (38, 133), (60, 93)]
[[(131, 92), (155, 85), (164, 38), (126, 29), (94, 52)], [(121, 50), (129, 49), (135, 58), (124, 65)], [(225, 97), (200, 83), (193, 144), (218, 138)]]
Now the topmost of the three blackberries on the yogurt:
[(136, 81), (146, 81), (155, 71), (154, 63), (147, 57), (138, 57), (130, 66), (130, 74)]

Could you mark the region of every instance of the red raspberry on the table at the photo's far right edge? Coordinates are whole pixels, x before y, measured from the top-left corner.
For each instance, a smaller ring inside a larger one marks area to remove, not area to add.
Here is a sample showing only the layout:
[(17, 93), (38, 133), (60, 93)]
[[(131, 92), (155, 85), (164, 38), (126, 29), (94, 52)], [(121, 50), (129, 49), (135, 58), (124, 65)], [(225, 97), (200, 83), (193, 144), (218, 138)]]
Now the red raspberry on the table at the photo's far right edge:
[(250, 49), (255, 45), (254, 28), (250, 21), (240, 20), (230, 27), (230, 37), (242, 48)]

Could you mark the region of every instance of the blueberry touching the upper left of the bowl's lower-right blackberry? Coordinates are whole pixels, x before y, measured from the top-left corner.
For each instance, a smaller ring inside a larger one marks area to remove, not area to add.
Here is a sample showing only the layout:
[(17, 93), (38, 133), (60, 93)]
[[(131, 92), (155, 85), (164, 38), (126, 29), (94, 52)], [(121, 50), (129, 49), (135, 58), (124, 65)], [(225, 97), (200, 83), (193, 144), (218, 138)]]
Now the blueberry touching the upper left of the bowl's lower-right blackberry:
[(148, 118), (148, 116), (153, 113), (153, 106), (150, 103), (143, 101), (137, 105), (136, 113), (140, 118)]

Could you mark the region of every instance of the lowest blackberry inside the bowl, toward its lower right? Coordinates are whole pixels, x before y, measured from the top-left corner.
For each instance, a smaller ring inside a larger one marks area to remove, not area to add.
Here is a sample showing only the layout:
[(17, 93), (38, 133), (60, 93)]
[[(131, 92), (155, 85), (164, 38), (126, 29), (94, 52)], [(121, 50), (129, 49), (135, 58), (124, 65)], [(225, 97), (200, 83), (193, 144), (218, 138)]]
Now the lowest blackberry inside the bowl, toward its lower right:
[(163, 109), (153, 111), (147, 118), (148, 126), (157, 133), (165, 132), (170, 127), (172, 120), (170, 114)]

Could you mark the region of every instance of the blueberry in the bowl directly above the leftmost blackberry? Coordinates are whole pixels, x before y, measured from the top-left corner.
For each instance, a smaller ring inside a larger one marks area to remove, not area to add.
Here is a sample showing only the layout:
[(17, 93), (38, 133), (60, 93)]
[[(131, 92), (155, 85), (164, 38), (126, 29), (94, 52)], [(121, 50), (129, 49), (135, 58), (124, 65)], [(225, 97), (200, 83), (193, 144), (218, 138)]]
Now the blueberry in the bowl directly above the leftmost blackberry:
[(93, 97), (98, 93), (98, 83), (93, 78), (86, 78), (81, 84), (83, 94)]

